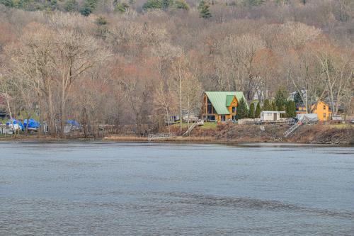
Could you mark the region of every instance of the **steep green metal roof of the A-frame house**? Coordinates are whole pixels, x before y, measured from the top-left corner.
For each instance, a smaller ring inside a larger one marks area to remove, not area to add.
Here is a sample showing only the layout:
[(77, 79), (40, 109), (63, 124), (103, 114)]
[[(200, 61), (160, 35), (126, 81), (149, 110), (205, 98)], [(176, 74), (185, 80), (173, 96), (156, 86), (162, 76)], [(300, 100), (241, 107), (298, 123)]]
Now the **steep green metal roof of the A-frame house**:
[(241, 101), (242, 98), (246, 101), (244, 93), (241, 91), (205, 91), (205, 94), (219, 115), (229, 114), (227, 106), (230, 106), (234, 96), (236, 96), (237, 101)]

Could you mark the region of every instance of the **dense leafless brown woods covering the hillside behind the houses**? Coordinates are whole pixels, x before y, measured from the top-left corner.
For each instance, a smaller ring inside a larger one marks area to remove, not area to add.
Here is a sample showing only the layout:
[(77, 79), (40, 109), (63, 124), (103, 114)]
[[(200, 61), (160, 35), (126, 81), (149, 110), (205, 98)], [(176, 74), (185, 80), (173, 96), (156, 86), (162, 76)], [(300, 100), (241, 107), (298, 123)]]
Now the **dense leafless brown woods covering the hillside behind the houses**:
[(251, 117), (280, 90), (352, 114), (354, 1), (0, 0), (0, 70), (9, 116), (54, 135), (157, 130), (202, 91), (244, 91)]

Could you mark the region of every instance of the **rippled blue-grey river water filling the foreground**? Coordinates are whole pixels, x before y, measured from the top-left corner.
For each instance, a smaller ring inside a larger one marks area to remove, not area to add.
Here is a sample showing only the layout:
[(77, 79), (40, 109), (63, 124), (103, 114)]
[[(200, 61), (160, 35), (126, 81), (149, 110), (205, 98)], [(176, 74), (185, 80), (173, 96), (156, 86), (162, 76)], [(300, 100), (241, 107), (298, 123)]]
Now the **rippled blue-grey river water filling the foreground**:
[(354, 147), (0, 142), (0, 235), (354, 235)]

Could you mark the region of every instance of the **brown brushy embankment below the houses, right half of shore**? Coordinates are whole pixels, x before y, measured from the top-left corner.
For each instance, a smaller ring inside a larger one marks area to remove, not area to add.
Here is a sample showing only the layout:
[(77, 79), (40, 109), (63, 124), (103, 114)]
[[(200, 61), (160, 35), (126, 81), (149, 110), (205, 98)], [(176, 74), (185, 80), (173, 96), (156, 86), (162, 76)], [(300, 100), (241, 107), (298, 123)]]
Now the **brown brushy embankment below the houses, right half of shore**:
[[(217, 129), (196, 128), (185, 140), (210, 142), (298, 142), (309, 144), (354, 145), (354, 125), (303, 125), (284, 137), (290, 125), (218, 125)], [(183, 140), (183, 139), (180, 139)]]

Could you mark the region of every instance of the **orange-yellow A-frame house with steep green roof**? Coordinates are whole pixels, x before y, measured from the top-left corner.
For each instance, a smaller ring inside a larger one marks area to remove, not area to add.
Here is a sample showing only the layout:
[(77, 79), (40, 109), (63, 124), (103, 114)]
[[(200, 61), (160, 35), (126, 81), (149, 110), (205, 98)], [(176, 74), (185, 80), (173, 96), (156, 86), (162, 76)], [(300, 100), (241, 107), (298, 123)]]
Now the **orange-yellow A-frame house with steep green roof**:
[(244, 99), (241, 91), (206, 91), (202, 105), (202, 118), (207, 121), (236, 120), (237, 106)]

